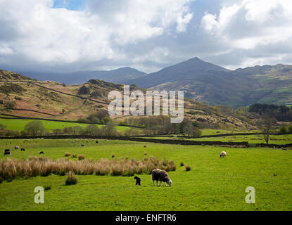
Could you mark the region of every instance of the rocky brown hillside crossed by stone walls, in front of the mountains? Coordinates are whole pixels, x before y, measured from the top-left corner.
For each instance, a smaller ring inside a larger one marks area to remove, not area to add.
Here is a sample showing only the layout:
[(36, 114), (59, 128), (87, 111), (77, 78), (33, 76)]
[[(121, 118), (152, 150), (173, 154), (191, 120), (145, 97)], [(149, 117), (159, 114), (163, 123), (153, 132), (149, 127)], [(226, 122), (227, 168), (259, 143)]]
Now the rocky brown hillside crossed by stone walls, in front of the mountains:
[[(130, 90), (135, 87), (131, 86)], [(80, 85), (65, 86), (58, 82), (41, 82), (23, 77), (15, 81), (5, 76), (0, 79), (0, 110), (8, 115), (78, 120), (97, 110), (107, 110), (109, 91), (122, 91), (122, 84), (113, 84), (98, 79)], [(13, 103), (13, 107), (8, 103)], [(232, 110), (186, 99), (184, 117), (204, 124), (204, 127), (236, 127), (254, 129), (253, 122)], [(113, 117), (122, 122), (129, 117)], [(252, 119), (252, 118), (251, 118)]]

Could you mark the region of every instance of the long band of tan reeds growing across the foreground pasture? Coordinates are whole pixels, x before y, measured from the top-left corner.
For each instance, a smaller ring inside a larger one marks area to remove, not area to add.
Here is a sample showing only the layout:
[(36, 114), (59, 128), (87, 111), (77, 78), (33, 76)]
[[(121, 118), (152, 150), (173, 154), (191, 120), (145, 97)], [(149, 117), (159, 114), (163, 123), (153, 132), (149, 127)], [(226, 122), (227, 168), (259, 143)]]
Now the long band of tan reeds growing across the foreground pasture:
[(165, 169), (167, 172), (175, 171), (173, 161), (160, 161), (156, 158), (144, 158), (144, 160), (120, 159), (107, 160), (70, 160), (61, 158), (53, 161), (48, 158), (30, 158), (29, 160), (8, 159), (0, 160), (0, 181), (12, 181), (16, 177), (49, 176), (56, 174), (65, 176), (68, 172), (76, 175), (97, 176), (134, 176), (134, 174), (151, 174), (153, 169)]

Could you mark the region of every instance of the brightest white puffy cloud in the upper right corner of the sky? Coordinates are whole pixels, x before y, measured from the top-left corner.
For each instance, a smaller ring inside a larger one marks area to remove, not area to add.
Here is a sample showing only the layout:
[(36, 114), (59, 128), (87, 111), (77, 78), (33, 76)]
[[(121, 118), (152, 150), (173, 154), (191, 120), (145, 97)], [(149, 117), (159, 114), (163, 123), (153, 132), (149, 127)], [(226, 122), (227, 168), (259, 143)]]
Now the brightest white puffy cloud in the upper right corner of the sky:
[(206, 13), (201, 24), (231, 48), (254, 49), (292, 37), (292, 2), (244, 0), (224, 6), (219, 15)]

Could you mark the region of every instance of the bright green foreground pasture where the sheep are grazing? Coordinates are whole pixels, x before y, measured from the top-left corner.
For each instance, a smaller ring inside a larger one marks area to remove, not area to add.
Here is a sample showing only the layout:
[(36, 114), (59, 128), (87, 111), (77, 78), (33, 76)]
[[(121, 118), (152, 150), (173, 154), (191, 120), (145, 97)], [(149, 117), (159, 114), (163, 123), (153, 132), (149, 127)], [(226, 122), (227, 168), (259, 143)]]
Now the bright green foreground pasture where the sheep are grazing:
[[(163, 160), (174, 160), (169, 172), (172, 187), (153, 186), (143, 174), (141, 186), (133, 176), (77, 176), (78, 184), (65, 186), (65, 176), (37, 176), (0, 184), (0, 210), (292, 210), (292, 151), (270, 148), (221, 148), (178, 146), (131, 141), (94, 140), (0, 140), (12, 150), (11, 158), (39, 156), (56, 160), (65, 152), (87, 159), (120, 158), (141, 160), (144, 152)], [(84, 143), (85, 147), (80, 145)], [(146, 148), (144, 148), (146, 146)], [(227, 158), (220, 152), (227, 151)], [(4, 160), (4, 156), (0, 155)], [(191, 166), (186, 172), (180, 162)], [(34, 203), (34, 188), (51, 186), (42, 205)], [(255, 204), (247, 204), (246, 187), (255, 188)]]

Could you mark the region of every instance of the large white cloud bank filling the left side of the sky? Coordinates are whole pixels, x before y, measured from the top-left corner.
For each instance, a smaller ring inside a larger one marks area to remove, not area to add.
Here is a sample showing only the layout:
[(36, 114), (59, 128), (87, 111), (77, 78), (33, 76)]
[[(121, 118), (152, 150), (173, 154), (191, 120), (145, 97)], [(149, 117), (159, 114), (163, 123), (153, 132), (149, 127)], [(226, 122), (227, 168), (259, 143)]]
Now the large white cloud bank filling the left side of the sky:
[(172, 25), (185, 32), (190, 1), (88, 0), (84, 11), (68, 11), (52, 8), (53, 0), (0, 0), (0, 23), (11, 25), (1, 32), (14, 35), (0, 35), (0, 62), (11, 63), (13, 56), (19, 64), (121, 60), (126, 44), (158, 37)]

